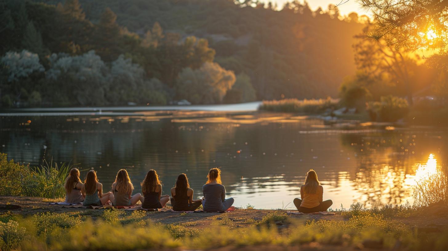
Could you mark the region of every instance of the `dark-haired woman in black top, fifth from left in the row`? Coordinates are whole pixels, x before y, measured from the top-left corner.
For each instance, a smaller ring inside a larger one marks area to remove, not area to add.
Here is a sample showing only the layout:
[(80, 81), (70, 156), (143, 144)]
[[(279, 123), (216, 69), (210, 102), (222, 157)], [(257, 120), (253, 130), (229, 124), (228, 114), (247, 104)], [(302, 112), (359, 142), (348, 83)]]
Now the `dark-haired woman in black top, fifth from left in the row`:
[(202, 203), (202, 199), (193, 199), (193, 189), (190, 188), (185, 173), (179, 174), (176, 186), (171, 189), (171, 204), (174, 211), (194, 211)]

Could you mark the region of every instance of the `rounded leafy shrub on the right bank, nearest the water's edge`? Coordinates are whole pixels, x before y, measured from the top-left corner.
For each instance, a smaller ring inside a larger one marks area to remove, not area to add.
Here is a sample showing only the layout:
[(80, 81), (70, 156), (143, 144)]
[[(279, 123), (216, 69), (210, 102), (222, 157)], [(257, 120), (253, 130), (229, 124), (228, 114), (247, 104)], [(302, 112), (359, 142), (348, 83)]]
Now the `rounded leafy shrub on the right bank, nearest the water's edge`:
[(367, 103), (372, 121), (397, 121), (409, 112), (408, 101), (396, 96), (382, 96), (381, 100)]

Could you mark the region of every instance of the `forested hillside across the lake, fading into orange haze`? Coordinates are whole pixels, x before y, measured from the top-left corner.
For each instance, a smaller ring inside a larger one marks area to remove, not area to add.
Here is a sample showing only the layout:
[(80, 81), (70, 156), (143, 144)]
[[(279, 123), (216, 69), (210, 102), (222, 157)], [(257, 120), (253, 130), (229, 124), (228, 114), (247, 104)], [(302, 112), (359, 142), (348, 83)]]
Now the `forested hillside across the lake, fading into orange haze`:
[(293, 1), (0, 0), (3, 107), (337, 96), (365, 16)]

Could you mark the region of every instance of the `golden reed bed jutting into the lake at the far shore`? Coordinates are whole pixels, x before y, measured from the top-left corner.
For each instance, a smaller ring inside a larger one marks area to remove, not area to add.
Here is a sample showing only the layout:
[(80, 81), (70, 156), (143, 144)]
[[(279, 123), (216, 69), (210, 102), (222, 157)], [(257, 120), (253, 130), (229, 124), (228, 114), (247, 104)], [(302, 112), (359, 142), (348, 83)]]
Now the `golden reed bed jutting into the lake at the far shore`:
[(338, 102), (339, 100), (334, 100), (331, 98), (313, 100), (263, 100), (263, 103), (258, 107), (258, 109), (285, 113), (319, 114), (326, 112), (328, 109), (335, 109), (338, 105)]

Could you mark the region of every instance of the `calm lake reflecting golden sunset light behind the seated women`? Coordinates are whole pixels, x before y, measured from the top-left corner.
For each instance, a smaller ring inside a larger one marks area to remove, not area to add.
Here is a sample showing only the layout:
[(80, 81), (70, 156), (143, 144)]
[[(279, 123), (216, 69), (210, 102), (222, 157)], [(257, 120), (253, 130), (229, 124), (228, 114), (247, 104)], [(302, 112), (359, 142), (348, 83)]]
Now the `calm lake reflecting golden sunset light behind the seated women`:
[(195, 197), (202, 196), (208, 170), (220, 167), (235, 206), (266, 209), (291, 208), (314, 169), (335, 209), (412, 203), (419, 164), (435, 166), (446, 149), (444, 128), (327, 122), (244, 107), (136, 110), (3, 113), (0, 152), (26, 164), (45, 157), (95, 169), (105, 188), (125, 168), (135, 192), (149, 169), (159, 173), (164, 194), (186, 173)]

